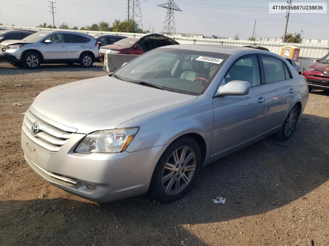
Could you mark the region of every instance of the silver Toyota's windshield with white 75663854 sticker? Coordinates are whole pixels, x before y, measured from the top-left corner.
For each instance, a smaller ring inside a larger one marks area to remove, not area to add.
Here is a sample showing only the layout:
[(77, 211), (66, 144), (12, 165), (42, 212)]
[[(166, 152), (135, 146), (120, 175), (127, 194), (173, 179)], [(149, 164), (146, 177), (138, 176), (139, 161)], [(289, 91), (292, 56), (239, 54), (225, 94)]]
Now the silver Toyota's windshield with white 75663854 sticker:
[(166, 91), (201, 95), (229, 56), (207, 51), (160, 48), (137, 57), (114, 75), (125, 81), (149, 82)]

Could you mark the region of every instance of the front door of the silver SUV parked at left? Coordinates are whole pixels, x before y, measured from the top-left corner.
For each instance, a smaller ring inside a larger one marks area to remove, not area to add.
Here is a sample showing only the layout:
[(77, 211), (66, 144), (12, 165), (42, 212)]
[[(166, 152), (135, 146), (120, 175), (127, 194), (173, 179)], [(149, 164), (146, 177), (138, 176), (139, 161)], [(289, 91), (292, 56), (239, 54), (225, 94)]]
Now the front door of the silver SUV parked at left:
[[(52, 43), (44, 43), (45, 40), (51, 40)], [(67, 59), (67, 45), (64, 42), (63, 33), (52, 34), (44, 39), (42, 41), (42, 49), (45, 60)]]

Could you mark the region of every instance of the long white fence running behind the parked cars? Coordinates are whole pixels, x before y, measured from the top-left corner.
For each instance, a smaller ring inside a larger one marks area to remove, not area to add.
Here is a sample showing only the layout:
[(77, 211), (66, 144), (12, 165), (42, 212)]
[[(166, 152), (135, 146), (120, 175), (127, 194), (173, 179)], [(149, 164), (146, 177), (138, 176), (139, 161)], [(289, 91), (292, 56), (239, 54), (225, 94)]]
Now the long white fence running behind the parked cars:
[[(12, 26), (0, 26), (5, 28), (15, 29), (30, 29), (33, 31), (42, 30), (57, 30), (57, 31), (75, 31), (88, 33), (89, 35), (96, 34), (111, 34), (118, 36), (127, 36), (132, 38), (140, 38), (147, 34), (143, 33), (129, 33), (129, 32), (111, 32), (111, 31), (85, 31), (85, 30), (64, 30), (64, 29), (49, 29), (49, 28), (37, 28), (37, 27), (12, 27)], [(148, 33), (149, 34), (149, 33)], [(329, 53), (328, 40), (304, 40), (301, 44), (283, 43), (278, 41), (248, 41), (248, 40), (233, 40), (233, 39), (211, 39), (211, 38), (200, 38), (185, 37), (180, 34), (170, 35), (169, 37), (175, 39), (180, 44), (223, 44), (223, 45), (234, 45), (234, 46), (245, 46), (245, 45), (258, 45), (267, 48), (269, 51), (281, 55), (283, 46), (288, 44), (297, 46), (300, 48), (298, 62), (305, 69), (308, 65), (315, 62), (317, 59), (322, 58)]]

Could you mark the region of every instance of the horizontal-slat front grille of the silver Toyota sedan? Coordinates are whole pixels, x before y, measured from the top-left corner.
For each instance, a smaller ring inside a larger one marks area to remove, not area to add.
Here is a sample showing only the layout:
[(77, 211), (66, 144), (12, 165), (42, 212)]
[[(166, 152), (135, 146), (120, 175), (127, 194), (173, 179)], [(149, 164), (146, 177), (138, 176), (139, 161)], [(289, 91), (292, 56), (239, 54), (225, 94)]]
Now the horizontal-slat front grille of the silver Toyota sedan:
[[(40, 129), (35, 135), (31, 131), (34, 123), (38, 123)], [(25, 113), (22, 130), (33, 143), (51, 152), (58, 152), (73, 135), (39, 119), (31, 111)]]

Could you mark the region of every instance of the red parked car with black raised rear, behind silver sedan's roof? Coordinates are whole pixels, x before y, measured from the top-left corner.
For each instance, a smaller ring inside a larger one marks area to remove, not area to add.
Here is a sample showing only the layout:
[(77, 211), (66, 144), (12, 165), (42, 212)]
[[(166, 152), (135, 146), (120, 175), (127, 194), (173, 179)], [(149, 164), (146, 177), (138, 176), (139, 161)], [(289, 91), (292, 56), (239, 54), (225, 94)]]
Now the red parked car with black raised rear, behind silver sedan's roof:
[(175, 40), (161, 34), (149, 34), (142, 38), (124, 38), (112, 45), (105, 45), (99, 49), (100, 59), (104, 59), (104, 54), (130, 54), (140, 55), (155, 48), (179, 44)]

